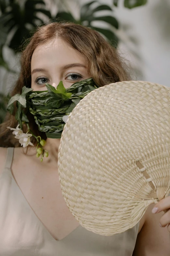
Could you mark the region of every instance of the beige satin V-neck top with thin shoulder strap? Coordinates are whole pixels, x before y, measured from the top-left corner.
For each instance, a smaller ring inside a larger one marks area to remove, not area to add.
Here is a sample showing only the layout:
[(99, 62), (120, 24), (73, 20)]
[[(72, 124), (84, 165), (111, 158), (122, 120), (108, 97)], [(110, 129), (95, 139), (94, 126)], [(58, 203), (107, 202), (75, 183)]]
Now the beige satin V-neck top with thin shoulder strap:
[(113, 236), (95, 234), (79, 225), (63, 239), (55, 240), (28, 204), (12, 175), (13, 150), (8, 148), (0, 176), (1, 256), (132, 255), (139, 224)]

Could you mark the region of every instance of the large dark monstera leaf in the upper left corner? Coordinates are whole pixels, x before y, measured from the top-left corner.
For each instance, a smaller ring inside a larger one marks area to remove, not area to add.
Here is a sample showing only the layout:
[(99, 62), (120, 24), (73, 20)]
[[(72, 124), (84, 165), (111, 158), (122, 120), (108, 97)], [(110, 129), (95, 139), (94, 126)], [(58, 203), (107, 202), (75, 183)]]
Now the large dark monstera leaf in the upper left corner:
[(15, 31), (9, 42), (10, 48), (20, 50), (22, 42), (30, 37), (30, 32), (33, 32), (37, 25), (44, 23), (37, 16), (38, 12), (46, 15), (47, 19), (51, 18), (50, 12), (45, 8), (37, 8), (37, 4), (45, 7), (43, 0), (26, 0), (22, 5), (17, 0), (1, 1), (0, 24), (7, 29), (7, 33)]

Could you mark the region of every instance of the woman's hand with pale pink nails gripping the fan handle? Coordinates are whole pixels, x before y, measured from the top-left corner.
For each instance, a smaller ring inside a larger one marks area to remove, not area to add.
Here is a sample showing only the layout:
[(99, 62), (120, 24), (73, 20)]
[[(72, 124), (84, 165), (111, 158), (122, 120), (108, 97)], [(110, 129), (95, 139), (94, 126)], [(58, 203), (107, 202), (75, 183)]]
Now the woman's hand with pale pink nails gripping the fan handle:
[(167, 229), (170, 232), (170, 196), (159, 201), (152, 209), (152, 213), (160, 213), (162, 211), (165, 213), (161, 217), (159, 225), (160, 227), (166, 227), (168, 225)]

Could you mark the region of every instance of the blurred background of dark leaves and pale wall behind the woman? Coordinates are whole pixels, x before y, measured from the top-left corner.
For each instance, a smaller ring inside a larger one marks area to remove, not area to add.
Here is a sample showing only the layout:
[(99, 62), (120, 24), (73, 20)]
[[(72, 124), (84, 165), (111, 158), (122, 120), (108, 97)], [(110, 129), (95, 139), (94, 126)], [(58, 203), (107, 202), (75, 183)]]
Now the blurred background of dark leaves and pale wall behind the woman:
[(132, 79), (170, 86), (170, 0), (0, 0), (0, 123), (25, 40), (62, 20), (101, 33), (130, 61)]

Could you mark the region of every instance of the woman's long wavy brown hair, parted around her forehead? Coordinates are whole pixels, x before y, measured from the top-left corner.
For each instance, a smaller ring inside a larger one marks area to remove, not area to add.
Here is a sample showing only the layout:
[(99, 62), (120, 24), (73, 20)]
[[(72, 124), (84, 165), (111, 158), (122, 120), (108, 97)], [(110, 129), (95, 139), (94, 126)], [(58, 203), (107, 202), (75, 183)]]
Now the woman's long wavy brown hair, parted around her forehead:
[[(88, 72), (99, 86), (131, 80), (129, 72), (127, 71), (129, 66), (125, 64), (118, 51), (98, 32), (74, 23), (50, 23), (38, 27), (30, 42), (22, 51), (21, 72), (10, 93), (11, 96), (17, 93), (21, 94), (23, 86), (28, 88), (31, 87), (31, 58), (33, 52), (37, 46), (42, 45), (55, 37), (63, 39), (84, 56), (87, 62)], [(33, 115), (29, 113), (28, 119), (33, 133), (36, 136), (41, 136), (42, 139), (46, 139), (45, 132), (40, 132), (38, 130)], [(15, 117), (7, 113), (5, 122), (0, 125), (1, 146), (20, 146), (18, 140), (12, 135), (12, 132), (7, 129), (7, 126), (16, 128), (17, 124), (18, 122)], [(27, 127), (23, 126), (23, 132), (26, 131)], [(31, 139), (31, 142), (36, 144), (35, 138), (32, 137)]]

